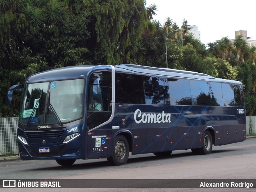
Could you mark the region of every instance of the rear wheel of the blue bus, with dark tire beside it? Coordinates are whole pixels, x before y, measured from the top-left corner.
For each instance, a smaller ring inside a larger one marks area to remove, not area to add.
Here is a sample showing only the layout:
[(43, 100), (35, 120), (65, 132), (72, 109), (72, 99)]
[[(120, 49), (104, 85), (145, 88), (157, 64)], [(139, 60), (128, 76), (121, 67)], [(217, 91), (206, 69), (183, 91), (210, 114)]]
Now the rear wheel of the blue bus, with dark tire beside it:
[(212, 134), (205, 131), (202, 138), (202, 148), (191, 149), (193, 154), (210, 154), (212, 152)]

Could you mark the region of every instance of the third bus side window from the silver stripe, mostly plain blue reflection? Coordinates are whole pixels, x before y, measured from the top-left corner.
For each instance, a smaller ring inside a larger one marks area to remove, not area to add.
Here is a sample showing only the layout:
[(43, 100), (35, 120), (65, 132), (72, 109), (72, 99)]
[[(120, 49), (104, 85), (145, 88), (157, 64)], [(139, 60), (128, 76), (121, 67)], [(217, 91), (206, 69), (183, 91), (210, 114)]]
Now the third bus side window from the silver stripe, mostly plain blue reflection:
[(168, 84), (171, 105), (192, 105), (189, 80), (169, 78)]

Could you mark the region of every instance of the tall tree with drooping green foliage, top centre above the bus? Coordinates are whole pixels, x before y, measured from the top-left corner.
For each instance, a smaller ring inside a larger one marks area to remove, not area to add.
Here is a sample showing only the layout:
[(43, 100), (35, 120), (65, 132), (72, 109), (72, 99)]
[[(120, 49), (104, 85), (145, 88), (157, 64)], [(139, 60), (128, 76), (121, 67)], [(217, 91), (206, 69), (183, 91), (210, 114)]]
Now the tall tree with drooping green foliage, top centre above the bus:
[[(90, 12), (90, 41), (95, 64), (120, 64), (129, 60), (131, 40), (140, 39), (146, 26), (144, 1), (87, 0)], [(98, 58), (99, 55), (102, 55)]]

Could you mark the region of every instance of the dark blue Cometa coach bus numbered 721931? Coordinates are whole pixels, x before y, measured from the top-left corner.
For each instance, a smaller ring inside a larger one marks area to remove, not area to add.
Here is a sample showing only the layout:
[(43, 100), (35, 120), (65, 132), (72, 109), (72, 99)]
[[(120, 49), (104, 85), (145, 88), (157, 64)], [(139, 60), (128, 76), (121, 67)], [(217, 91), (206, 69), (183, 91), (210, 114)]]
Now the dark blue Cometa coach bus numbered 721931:
[(133, 64), (70, 66), (31, 75), (17, 128), (22, 160), (210, 154), (246, 139), (242, 83), (207, 74)]

